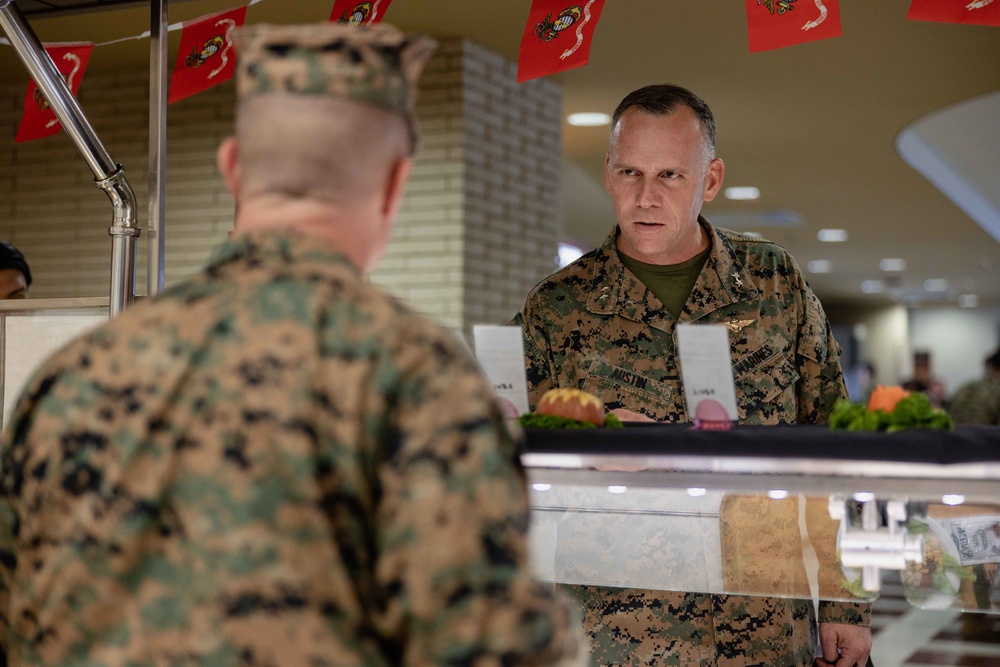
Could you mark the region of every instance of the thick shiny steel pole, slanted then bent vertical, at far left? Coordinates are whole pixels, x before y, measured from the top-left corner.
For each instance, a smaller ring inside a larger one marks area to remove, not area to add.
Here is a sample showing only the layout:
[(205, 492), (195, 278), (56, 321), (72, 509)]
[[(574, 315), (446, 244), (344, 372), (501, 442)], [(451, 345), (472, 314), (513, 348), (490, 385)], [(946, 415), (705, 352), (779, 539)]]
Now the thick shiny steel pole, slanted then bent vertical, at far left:
[(111, 199), (114, 217), (108, 230), (112, 237), (110, 309), (115, 316), (131, 303), (135, 294), (135, 239), (140, 233), (135, 193), (121, 165), (111, 159), (69, 86), (12, 0), (0, 0), (0, 28), (94, 173), (97, 187)]

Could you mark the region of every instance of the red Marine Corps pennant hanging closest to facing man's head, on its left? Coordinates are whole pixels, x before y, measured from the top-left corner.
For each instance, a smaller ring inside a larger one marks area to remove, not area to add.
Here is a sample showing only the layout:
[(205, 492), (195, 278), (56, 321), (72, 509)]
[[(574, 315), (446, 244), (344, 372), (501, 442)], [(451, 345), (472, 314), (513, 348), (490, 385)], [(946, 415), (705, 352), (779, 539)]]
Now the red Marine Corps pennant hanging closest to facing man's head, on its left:
[(590, 44), (604, 0), (578, 2), (532, 0), (517, 61), (518, 83), (583, 67), (590, 60)]

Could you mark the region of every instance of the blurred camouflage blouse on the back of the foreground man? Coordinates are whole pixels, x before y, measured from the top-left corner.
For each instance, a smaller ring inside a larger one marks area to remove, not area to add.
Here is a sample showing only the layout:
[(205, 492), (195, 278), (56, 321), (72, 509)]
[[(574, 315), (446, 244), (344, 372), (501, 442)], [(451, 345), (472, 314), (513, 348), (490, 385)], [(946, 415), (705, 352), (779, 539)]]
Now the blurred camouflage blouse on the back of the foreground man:
[(0, 664), (576, 664), (453, 334), (258, 233), (51, 357), (0, 461)]

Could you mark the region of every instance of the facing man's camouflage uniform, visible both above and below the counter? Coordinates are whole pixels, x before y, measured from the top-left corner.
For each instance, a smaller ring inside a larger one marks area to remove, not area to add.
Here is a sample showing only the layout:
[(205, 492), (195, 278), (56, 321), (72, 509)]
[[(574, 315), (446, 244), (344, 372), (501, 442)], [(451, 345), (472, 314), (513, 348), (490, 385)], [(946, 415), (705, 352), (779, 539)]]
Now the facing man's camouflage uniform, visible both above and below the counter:
[[(679, 318), (730, 329), (743, 424), (821, 423), (846, 397), (840, 348), (819, 300), (779, 246), (702, 220), (711, 251)], [(539, 283), (522, 327), (532, 406), (577, 387), (605, 406), (659, 421), (685, 411), (674, 319), (604, 244)], [(585, 607), (602, 665), (811, 665), (811, 601), (594, 586), (568, 587)], [(821, 603), (820, 620), (867, 624), (868, 608)]]

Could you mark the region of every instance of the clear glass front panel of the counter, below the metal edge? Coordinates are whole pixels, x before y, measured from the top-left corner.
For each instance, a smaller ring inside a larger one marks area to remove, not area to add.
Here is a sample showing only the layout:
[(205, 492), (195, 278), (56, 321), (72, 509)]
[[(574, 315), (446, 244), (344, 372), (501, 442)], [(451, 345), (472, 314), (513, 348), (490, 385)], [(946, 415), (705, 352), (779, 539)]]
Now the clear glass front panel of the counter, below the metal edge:
[(1000, 614), (998, 502), (560, 472), (529, 471), (533, 565), (546, 581), (842, 602), (875, 600), (892, 581), (914, 607)]

